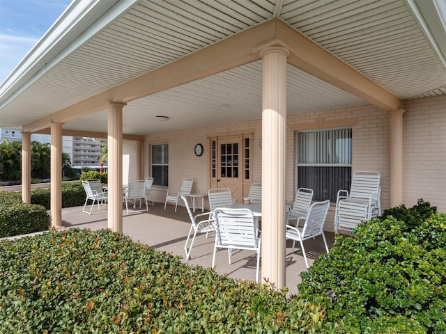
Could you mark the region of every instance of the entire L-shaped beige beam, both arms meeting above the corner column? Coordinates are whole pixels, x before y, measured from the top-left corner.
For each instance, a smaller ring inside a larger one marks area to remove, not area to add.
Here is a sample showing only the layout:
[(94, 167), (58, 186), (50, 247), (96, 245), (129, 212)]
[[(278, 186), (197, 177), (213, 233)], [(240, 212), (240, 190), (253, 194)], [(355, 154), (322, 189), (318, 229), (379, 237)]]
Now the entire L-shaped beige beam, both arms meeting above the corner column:
[(86, 100), (22, 127), (38, 132), (51, 122), (66, 123), (107, 109), (107, 102), (130, 102), (259, 59), (259, 49), (280, 41), (291, 51), (288, 62), (314, 77), (384, 110), (401, 108), (401, 100), (363, 74), (332, 56), (279, 19), (226, 38)]

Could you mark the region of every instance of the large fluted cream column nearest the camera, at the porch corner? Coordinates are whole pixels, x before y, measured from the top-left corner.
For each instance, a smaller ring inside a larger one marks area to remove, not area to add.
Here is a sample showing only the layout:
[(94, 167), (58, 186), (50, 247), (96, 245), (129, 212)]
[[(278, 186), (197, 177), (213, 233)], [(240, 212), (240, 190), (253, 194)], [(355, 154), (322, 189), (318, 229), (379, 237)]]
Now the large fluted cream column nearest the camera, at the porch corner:
[(260, 51), (262, 92), (262, 278), (285, 283), (286, 58), (281, 46)]

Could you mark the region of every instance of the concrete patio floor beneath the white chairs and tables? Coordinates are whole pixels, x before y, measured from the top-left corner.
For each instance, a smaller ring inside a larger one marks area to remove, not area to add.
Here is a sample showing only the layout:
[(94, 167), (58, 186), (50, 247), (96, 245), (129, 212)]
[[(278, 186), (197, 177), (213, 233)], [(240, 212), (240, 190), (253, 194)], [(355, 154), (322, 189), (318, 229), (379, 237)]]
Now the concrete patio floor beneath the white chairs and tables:
[[(198, 213), (201, 213), (201, 209), (195, 214)], [(91, 230), (107, 228), (107, 208), (105, 205), (102, 205), (101, 209), (96, 206), (93, 208), (91, 215), (83, 214), (82, 207), (65, 208), (62, 210), (62, 223), (66, 228), (90, 228)], [(185, 260), (184, 245), (190, 225), (190, 218), (186, 209), (180, 206), (178, 206), (177, 212), (174, 212), (174, 205), (167, 205), (164, 211), (164, 203), (155, 203), (155, 206), (149, 205), (148, 212), (126, 214), (125, 207), (123, 209), (123, 233), (134, 241), (140, 241), (151, 248), (164, 250), (173, 255), (180, 255), (183, 262), (192, 266), (210, 267), (213, 257), (213, 235), (206, 239), (206, 234), (198, 234), (194, 241), (191, 258), (189, 261)], [(334, 233), (325, 232), (325, 237), (328, 247), (331, 248), (334, 242)], [(296, 243), (294, 253), (292, 245), (292, 241), (287, 241), (285, 285), (289, 289), (288, 295), (297, 293), (300, 273), (307, 270), (300, 245)], [(319, 255), (325, 252), (322, 237), (304, 241), (304, 246), (307, 250), (310, 265)], [(226, 250), (219, 250), (217, 251), (215, 264), (217, 273), (236, 279), (255, 280), (256, 255), (254, 251), (233, 251), (232, 264), (229, 264)], [(261, 278), (261, 281), (263, 282), (263, 278)]]

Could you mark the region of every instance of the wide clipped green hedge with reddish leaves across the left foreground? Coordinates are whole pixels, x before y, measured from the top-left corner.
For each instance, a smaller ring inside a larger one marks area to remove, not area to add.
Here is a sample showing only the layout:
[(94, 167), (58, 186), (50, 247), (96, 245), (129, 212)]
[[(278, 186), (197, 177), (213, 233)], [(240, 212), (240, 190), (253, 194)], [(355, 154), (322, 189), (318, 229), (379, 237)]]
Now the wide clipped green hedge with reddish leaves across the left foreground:
[(109, 230), (1, 241), (0, 254), (1, 333), (343, 333), (317, 305)]

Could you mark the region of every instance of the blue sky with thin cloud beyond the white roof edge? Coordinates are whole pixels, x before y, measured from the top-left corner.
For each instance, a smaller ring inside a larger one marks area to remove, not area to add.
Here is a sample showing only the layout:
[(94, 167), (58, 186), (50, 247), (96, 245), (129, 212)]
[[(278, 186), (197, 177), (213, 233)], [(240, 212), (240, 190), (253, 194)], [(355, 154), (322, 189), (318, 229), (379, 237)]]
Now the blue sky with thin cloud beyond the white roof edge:
[(72, 0), (0, 0), (0, 83)]

